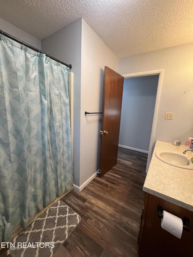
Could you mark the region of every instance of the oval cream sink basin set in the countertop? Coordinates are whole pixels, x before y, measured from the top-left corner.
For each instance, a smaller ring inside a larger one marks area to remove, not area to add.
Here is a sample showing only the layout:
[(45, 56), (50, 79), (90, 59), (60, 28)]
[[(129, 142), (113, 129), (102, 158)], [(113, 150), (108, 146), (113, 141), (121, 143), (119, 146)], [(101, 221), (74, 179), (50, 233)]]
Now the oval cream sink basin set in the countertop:
[(193, 164), (190, 156), (185, 156), (183, 153), (172, 151), (157, 151), (156, 157), (169, 165), (176, 166), (182, 169), (193, 170)]

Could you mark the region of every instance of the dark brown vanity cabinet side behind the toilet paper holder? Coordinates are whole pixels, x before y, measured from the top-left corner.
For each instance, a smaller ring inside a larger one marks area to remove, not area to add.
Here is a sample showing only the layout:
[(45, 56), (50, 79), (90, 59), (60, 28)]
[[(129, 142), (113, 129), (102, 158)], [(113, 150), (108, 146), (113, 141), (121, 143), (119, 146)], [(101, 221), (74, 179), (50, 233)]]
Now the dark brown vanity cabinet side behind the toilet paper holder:
[[(190, 220), (190, 232), (183, 229), (181, 239), (161, 227), (157, 206), (163, 210)], [(157, 196), (145, 193), (144, 208), (139, 232), (139, 257), (192, 257), (193, 256), (193, 212)]]

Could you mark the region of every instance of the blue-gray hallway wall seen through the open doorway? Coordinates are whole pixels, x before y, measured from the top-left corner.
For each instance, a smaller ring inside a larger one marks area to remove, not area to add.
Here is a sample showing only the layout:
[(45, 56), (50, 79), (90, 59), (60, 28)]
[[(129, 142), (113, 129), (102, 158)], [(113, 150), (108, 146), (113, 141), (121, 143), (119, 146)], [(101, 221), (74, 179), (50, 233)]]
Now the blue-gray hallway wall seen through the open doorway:
[(159, 75), (124, 79), (119, 145), (148, 151)]

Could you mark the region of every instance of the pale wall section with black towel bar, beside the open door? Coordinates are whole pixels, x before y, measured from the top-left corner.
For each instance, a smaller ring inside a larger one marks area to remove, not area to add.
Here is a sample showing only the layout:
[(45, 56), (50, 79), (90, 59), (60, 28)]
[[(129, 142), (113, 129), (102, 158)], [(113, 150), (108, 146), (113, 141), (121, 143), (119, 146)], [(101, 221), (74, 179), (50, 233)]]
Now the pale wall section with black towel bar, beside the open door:
[(118, 68), (118, 58), (83, 19), (81, 55), (80, 186), (99, 169), (102, 124), (102, 114), (84, 112), (102, 111), (104, 67)]

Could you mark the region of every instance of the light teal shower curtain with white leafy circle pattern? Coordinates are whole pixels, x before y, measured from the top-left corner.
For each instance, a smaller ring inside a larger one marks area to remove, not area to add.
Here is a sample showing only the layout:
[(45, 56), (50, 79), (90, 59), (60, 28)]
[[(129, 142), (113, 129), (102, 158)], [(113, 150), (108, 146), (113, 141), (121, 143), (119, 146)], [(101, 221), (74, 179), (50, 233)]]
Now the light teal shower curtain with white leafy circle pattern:
[(0, 36), (0, 241), (71, 189), (69, 68)]

